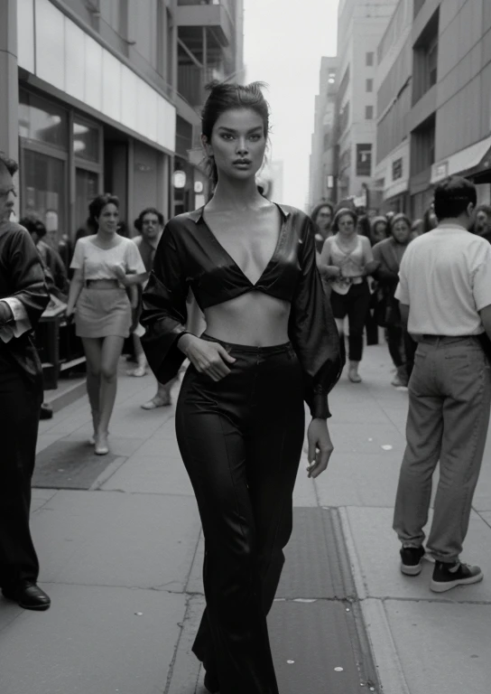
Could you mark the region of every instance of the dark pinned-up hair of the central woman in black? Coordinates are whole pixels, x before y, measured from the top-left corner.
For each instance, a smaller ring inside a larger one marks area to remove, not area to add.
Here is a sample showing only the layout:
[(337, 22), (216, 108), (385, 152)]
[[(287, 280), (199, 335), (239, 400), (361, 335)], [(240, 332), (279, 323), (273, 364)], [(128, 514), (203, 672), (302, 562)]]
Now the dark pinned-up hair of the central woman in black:
[[(264, 122), (264, 136), (269, 133), (269, 106), (261, 91), (264, 82), (251, 84), (236, 84), (236, 82), (220, 82), (213, 80), (205, 89), (209, 91), (208, 98), (201, 111), (201, 133), (211, 142), (213, 127), (222, 113), (235, 108), (251, 108)], [(207, 157), (208, 174), (213, 185), (218, 183), (217, 164), (212, 156)]]

